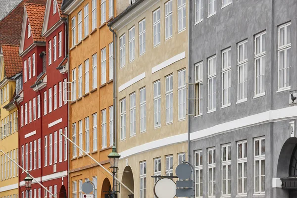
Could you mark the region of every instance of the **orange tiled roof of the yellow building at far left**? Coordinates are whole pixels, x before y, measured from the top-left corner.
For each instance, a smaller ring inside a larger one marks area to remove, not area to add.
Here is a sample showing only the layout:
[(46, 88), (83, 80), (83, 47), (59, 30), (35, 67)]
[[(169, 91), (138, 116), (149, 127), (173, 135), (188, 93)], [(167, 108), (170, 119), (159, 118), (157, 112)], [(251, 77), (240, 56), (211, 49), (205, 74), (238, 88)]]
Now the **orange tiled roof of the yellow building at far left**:
[(2, 44), (5, 74), (7, 78), (22, 72), (22, 58), (19, 56), (19, 46)]

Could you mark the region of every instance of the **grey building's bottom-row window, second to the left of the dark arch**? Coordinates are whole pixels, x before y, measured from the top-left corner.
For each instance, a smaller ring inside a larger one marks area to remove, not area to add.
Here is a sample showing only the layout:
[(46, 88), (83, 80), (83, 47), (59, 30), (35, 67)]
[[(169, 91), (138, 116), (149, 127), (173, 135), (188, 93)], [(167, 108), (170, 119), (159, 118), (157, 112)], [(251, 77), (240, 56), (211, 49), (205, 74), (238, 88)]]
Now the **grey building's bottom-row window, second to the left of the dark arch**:
[(237, 195), (247, 195), (247, 141), (237, 143)]

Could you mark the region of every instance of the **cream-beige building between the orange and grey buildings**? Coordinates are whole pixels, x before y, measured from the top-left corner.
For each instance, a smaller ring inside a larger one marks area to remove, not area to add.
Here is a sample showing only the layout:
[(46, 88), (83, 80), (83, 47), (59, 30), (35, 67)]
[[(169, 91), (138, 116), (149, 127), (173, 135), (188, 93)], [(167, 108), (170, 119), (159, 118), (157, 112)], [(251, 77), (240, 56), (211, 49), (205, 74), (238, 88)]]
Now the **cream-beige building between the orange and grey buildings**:
[(131, 3), (108, 24), (116, 33), (118, 177), (135, 198), (153, 198), (151, 176), (175, 175), (188, 156), (188, 5)]

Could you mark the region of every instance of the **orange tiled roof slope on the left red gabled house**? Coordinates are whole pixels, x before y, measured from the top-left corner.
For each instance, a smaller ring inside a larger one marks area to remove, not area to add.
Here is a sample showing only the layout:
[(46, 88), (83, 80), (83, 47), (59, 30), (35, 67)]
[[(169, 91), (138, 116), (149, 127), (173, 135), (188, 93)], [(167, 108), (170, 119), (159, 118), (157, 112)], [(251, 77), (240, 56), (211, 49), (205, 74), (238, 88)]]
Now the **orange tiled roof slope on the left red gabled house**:
[(31, 33), (34, 41), (46, 41), (45, 37), (41, 36), (42, 26), (45, 17), (46, 5), (26, 3), (25, 8), (28, 15), (28, 20), (31, 27)]

